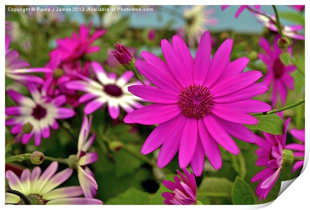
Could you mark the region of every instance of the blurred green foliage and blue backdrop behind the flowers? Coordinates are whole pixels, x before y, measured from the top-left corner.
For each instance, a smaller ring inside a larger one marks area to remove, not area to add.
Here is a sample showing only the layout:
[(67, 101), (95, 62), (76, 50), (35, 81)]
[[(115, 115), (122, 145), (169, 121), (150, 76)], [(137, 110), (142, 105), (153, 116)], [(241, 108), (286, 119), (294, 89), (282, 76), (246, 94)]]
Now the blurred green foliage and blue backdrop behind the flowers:
[[(8, 6), (6, 6), (8, 7)], [(14, 6), (9, 6), (14, 7)], [(36, 6), (35, 6), (36, 7)], [(42, 7), (42, 6), (41, 6)], [(61, 6), (59, 6), (61, 7)], [(70, 7), (70, 6), (63, 6)], [(84, 6), (85, 8), (87, 6)], [(90, 7), (90, 6), (88, 6)], [(92, 6), (96, 7), (96, 6)], [(101, 5), (100, 7), (112, 7)], [(127, 6), (132, 7), (132, 6)], [(139, 57), (141, 50), (151, 51), (161, 56), (160, 39), (171, 38), (177, 29), (184, 24), (184, 19), (180, 15), (184, 7), (190, 6), (134, 6), (149, 7), (151, 12), (7, 12), (5, 20), (11, 24), (9, 33), (12, 42), (10, 48), (16, 49), (21, 57), (28, 61), (32, 67), (44, 66), (49, 60), (48, 52), (55, 47), (55, 39), (58, 37), (70, 36), (72, 31), (78, 30), (80, 23), (93, 22), (93, 28), (106, 28), (107, 32), (94, 44), (100, 46), (100, 51), (92, 53), (87, 57), (103, 64), (107, 71), (114, 71), (117, 74), (125, 69), (114, 60), (108, 62), (113, 44), (122, 42), (127, 47), (135, 50), (135, 57)], [(266, 72), (264, 64), (257, 60), (257, 52), (261, 49), (258, 45), (260, 36), (266, 37), (272, 42), (274, 33), (263, 28), (256, 22), (249, 12), (243, 12), (238, 19), (234, 19), (235, 6), (227, 11), (220, 11), (219, 6), (210, 6), (215, 9), (214, 17), (218, 18), (218, 24), (208, 27), (214, 38), (212, 52), (226, 38), (233, 39), (233, 50), (231, 60), (241, 56), (250, 58), (250, 62), (245, 70), (260, 70)], [(269, 6), (271, 7), (271, 6)], [(267, 11), (272, 9), (268, 6), (262, 7)], [(304, 16), (297, 11), (293, 11), (287, 6), (278, 6), (281, 20), (285, 23), (304, 24)], [(173, 13), (174, 12), (174, 13)], [(155, 31), (152, 40), (147, 38), (150, 30)], [(196, 45), (191, 47), (195, 52)], [(291, 104), (304, 97), (304, 41), (296, 40), (293, 45), (293, 64), (298, 68), (293, 72), (295, 79), (295, 89), (289, 91), (286, 104)], [(194, 56), (194, 53), (193, 53)], [(18, 89), (23, 93), (27, 90), (5, 78), (6, 88)], [(258, 96), (260, 100), (268, 101), (270, 92)], [(14, 102), (5, 97), (5, 105), (9, 106)], [(76, 152), (77, 136), (81, 125), (82, 108), (73, 118), (62, 120), (58, 130), (53, 130), (51, 137), (42, 140), (39, 147), (35, 147), (32, 142), (23, 145), (13, 144), (13, 136), (6, 128), (6, 155), (20, 154), (40, 150), (44, 154), (53, 157), (67, 157)], [(153, 126), (143, 126), (138, 124), (124, 124), (122, 118), (124, 112), (116, 120), (112, 120), (106, 110), (101, 108), (93, 113), (92, 132), (96, 133), (96, 140), (91, 150), (97, 151), (98, 160), (90, 165), (94, 171), (95, 179), (98, 182), (97, 198), (105, 204), (163, 204), (161, 192), (167, 189), (161, 184), (163, 178), (172, 179), (175, 169), (178, 169), (177, 155), (164, 168), (156, 167), (156, 155), (154, 151), (148, 155), (140, 154), (140, 148), (154, 128)], [(304, 105), (294, 107), (284, 112), (284, 117), (292, 117), (289, 129), (304, 128)], [(261, 131), (256, 131), (261, 134)], [(287, 143), (294, 141), (287, 133)], [(200, 177), (196, 177), (198, 185), (198, 200), (203, 204), (231, 204), (232, 183), (235, 181), (249, 186), (250, 193), (255, 191), (257, 183), (250, 182), (251, 177), (261, 170), (255, 165), (257, 156), (254, 154), (257, 146), (245, 143), (236, 139), (241, 149), (240, 154), (231, 155), (224, 149), (221, 150), (223, 164), (222, 168), (215, 171), (206, 160), (204, 171)], [(40, 166), (45, 168), (49, 164), (44, 161)], [(22, 161), (6, 167), (28, 167), (33, 165), (30, 161)], [(59, 164), (59, 169), (67, 167)], [(77, 185), (77, 175), (74, 171), (70, 179), (63, 185)], [(296, 177), (300, 169), (294, 174), (291, 167), (282, 169), (273, 189), (265, 200), (257, 201), (257, 196), (253, 196), (254, 203), (269, 202), (276, 198), (280, 182)], [(236, 178), (238, 177), (238, 178)], [(240, 180), (241, 178), (241, 180)], [(246, 187), (245, 187), (246, 188)]]

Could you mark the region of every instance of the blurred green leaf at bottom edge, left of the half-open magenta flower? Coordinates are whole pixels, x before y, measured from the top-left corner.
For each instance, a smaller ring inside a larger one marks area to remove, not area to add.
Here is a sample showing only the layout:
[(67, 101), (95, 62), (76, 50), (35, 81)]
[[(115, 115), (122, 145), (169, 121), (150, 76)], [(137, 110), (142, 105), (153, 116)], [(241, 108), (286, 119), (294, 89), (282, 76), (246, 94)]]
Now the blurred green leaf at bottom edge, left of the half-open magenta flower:
[(125, 192), (118, 194), (116, 197), (110, 198), (104, 204), (106, 205), (146, 205), (148, 203), (149, 194), (140, 191), (134, 187), (130, 187)]

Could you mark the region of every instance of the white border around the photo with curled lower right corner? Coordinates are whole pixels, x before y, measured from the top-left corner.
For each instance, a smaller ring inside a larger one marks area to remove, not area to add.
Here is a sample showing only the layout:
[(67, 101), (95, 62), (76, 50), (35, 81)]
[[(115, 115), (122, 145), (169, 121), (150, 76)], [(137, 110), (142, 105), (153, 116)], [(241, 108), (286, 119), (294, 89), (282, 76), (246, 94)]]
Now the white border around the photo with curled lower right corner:
[[(305, 19), (306, 21), (306, 25), (305, 25), (305, 34), (306, 37), (309, 35), (309, 15), (308, 15), (308, 8), (310, 8), (310, 1), (308, 0), (233, 0), (233, 4), (278, 4), (278, 5), (290, 5), (290, 4), (305, 4), (306, 5), (306, 12), (305, 12)], [(1, 85), (1, 91), (0, 91), (0, 97), (2, 98), (2, 101), (4, 101), (4, 5), (6, 4), (21, 4), (21, 5), (38, 5), (38, 4), (50, 4), (50, 5), (76, 5), (76, 4), (80, 4), (83, 5), (85, 3), (87, 3), (88, 5), (97, 5), (97, 4), (116, 4), (116, 5), (127, 5), (127, 4), (132, 4), (132, 5), (153, 5), (153, 4), (190, 4), (190, 5), (195, 5), (195, 4), (210, 4), (210, 5), (218, 5), (218, 4), (231, 4), (232, 0), (190, 0), (190, 1), (186, 1), (186, 0), (130, 0), (130, 1), (126, 1), (126, 0), (108, 0), (108, 1), (103, 1), (103, 0), (10, 0), (10, 1), (6, 1), (4, 2), (4, 0), (1, 1), (2, 4), (2, 12), (1, 12), (1, 22), (2, 22), (2, 26), (0, 27), (0, 36), (1, 36), (1, 63), (2, 63), (2, 76), (0, 76), (0, 85)], [(233, 18), (233, 17), (232, 17)], [(306, 41), (305, 42), (305, 47), (306, 47), (306, 51), (305, 51), (305, 57), (309, 56), (309, 42)], [(309, 81), (309, 73), (307, 71), (309, 71), (309, 61), (308, 59), (305, 59), (305, 89), (308, 89), (308, 85), (307, 85), (307, 81)], [(309, 156), (309, 148), (310, 148), (310, 143), (309, 143), (309, 107), (308, 107), (308, 99), (309, 98), (309, 91), (307, 90), (305, 92), (305, 137), (306, 137), (306, 142), (305, 142), (305, 147), (306, 147), (306, 154), (305, 154), (305, 161), (307, 163), (308, 161), (308, 156)], [(4, 136), (4, 103), (1, 102), (0, 103), (0, 108), (1, 108), (1, 112), (0, 112), (0, 133), (2, 134), (2, 136)], [(4, 139), (2, 138), (2, 146), (0, 147), (1, 149), (1, 155), (0, 155), (0, 159), (1, 159), (1, 164), (0, 164), (0, 171), (3, 171), (0, 173), (0, 189), (4, 189)], [(271, 205), (268, 205), (267, 207), (265, 207), (265, 209), (271, 209), (271, 208), (277, 208), (277, 209), (281, 209), (281, 208), (285, 208), (285, 209), (289, 209), (289, 208), (300, 208), (300, 209), (305, 209), (305, 206), (308, 206), (309, 203), (309, 195), (308, 195), (308, 190), (310, 186), (310, 169), (308, 167), (303, 168), (303, 172), (302, 174), (296, 178), (296, 180), (293, 182), (293, 184), (291, 184), (291, 186), (288, 187), (287, 190), (284, 190), (284, 192), (278, 197), (276, 198), (273, 203)], [(102, 186), (104, 187), (104, 186)], [(4, 192), (2, 191), (2, 196), (0, 196), (0, 205), (4, 206)], [(270, 203), (269, 203), (270, 204)], [(252, 208), (260, 208), (263, 206), (266, 206), (267, 204), (262, 204), (262, 205), (249, 205), (249, 206), (238, 206), (238, 205), (195, 205), (195, 206), (179, 206), (180, 208), (200, 208), (200, 209), (252, 209)], [(64, 209), (67, 207), (74, 207), (75, 209), (81, 209), (83, 208), (83, 206), (57, 206), (57, 208), (60, 209)], [(88, 207), (88, 206), (87, 206)], [(103, 205), (103, 206), (91, 206), (92, 209), (119, 209), (120, 207), (125, 207), (126, 209), (144, 209), (145, 207), (147, 207), (148, 209), (156, 209), (159, 206), (156, 205), (147, 205), (147, 206), (143, 206), (143, 205), (134, 205), (134, 206), (117, 206), (117, 205)], [(15, 208), (22, 208), (22, 209), (41, 209), (42, 206), (10, 206), (10, 205), (5, 205), (6, 209), (15, 209)], [(43, 208), (46, 209), (54, 209), (55, 206), (44, 206)], [(173, 206), (168, 206), (168, 205), (161, 205), (160, 208), (173, 208)]]

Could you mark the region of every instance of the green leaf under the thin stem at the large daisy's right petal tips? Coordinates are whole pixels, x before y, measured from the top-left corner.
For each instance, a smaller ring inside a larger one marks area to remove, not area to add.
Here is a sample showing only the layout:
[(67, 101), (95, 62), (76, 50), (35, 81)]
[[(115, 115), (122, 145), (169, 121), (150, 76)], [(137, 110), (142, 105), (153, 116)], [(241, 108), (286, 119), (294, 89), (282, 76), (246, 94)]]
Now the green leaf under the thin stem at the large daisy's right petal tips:
[(261, 130), (275, 135), (283, 133), (283, 121), (276, 114), (255, 115), (258, 124), (246, 125), (251, 130)]

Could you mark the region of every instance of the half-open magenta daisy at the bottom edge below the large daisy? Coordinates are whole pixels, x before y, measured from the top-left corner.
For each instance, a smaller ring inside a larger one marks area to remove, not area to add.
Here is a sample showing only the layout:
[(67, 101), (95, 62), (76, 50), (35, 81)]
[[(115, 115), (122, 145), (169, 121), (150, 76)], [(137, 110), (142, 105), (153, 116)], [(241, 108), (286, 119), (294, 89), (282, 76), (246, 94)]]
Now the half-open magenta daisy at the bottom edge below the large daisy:
[(162, 183), (173, 192), (163, 192), (161, 196), (165, 198), (163, 201), (167, 205), (194, 205), (196, 204), (196, 180), (194, 174), (188, 172), (186, 168), (183, 169), (185, 176), (176, 170), (178, 176), (174, 176), (174, 182), (163, 180)]

